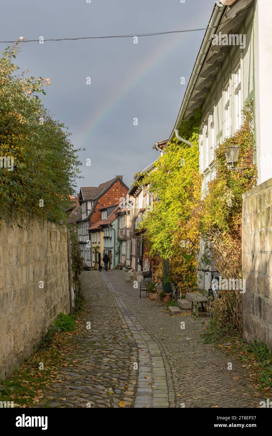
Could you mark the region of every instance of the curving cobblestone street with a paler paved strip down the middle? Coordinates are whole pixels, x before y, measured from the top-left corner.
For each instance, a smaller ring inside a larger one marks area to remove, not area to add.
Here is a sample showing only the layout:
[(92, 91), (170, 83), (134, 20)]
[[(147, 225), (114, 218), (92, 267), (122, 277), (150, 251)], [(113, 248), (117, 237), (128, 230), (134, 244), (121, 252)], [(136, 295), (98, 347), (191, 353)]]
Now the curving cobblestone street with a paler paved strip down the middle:
[(258, 407), (241, 361), (231, 358), (228, 371), (230, 359), (203, 343), (203, 318), (170, 317), (124, 277), (81, 274), (86, 320), (60, 371), (65, 388), (55, 385), (38, 407)]

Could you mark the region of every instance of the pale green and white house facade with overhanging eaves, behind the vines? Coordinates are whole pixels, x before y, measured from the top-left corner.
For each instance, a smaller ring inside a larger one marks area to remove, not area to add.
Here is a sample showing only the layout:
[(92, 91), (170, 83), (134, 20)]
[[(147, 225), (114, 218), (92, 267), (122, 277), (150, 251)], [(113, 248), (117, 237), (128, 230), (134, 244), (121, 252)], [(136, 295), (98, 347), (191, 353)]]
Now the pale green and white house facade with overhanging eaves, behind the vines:
[[(215, 177), (214, 150), (241, 127), (241, 110), (251, 99), (254, 101), (258, 184), (272, 177), (271, 75), (272, 1), (217, 1), (169, 137), (170, 141), (176, 135), (186, 142), (179, 136), (179, 126), (200, 108), (202, 197)], [(200, 242), (200, 268), (205, 269), (202, 255), (203, 242)], [(200, 289), (209, 287), (209, 273), (206, 275), (199, 280)]]

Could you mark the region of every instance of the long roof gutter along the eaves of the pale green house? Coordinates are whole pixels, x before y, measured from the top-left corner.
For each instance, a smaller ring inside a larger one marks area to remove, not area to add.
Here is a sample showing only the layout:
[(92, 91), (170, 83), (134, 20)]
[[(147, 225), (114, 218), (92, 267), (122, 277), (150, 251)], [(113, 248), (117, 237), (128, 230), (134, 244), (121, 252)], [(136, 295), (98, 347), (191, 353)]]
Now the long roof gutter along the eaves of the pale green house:
[[(179, 110), (179, 115), (178, 118), (176, 120), (176, 124), (174, 129), (172, 130), (171, 135), (169, 136), (169, 142), (172, 140), (174, 134), (175, 134), (175, 129), (179, 129), (179, 123), (180, 120), (183, 119), (183, 116), (186, 112), (187, 106), (188, 106), (188, 102), (189, 99), (191, 98), (191, 94), (194, 90), (194, 87), (196, 85), (196, 81), (199, 77), (200, 71), (203, 67), (203, 63), (207, 57), (207, 53), (210, 49), (210, 44), (212, 41), (212, 37), (213, 35), (216, 33), (216, 27), (219, 25), (221, 17), (222, 17), (222, 13), (225, 10), (226, 6), (223, 6), (222, 3), (220, 1), (217, 1), (214, 5), (213, 8), (213, 13), (210, 17), (210, 21), (207, 27), (207, 30), (205, 32), (201, 47), (200, 47), (200, 51), (198, 52), (197, 58), (196, 58), (196, 62), (193, 68), (193, 72), (191, 74), (190, 80), (189, 80), (189, 84), (187, 86), (187, 89), (185, 91), (185, 95), (183, 97), (183, 101), (182, 101), (182, 105), (180, 107)], [(178, 138), (179, 139), (179, 138)], [(168, 143), (166, 144), (165, 148), (168, 146)]]

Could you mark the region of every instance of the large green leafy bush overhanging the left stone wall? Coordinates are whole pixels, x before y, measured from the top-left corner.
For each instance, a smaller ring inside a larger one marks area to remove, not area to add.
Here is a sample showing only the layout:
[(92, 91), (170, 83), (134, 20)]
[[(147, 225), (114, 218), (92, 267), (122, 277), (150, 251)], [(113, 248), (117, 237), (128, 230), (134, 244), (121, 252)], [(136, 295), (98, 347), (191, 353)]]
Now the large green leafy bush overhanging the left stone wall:
[(0, 218), (8, 220), (14, 209), (20, 221), (27, 214), (65, 221), (80, 172), (79, 150), (39, 98), (50, 79), (16, 74), (19, 47), (17, 41), (0, 58), (0, 156), (13, 160), (13, 170), (0, 171)]

